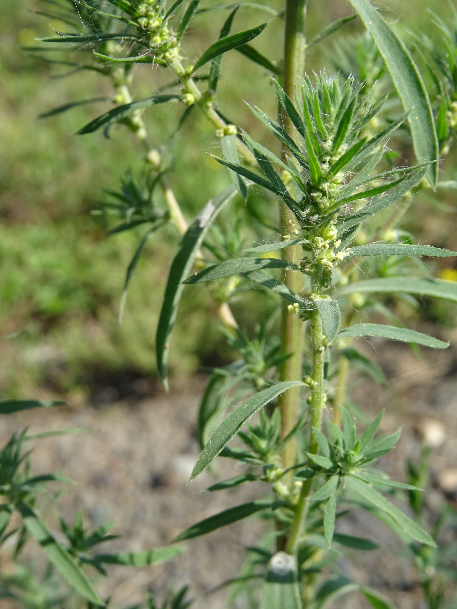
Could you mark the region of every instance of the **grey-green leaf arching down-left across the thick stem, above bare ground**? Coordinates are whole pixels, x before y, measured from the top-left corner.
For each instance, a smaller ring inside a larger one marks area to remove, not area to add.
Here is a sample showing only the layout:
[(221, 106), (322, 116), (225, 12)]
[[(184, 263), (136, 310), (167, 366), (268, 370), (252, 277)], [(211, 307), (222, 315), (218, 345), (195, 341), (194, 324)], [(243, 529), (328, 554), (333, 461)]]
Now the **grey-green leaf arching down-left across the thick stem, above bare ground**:
[(272, 385), (272, 387), (267, 387), (267, 389), (263, 389), (256, 393), (242, 406), (238, 406), (238, 408), (232, 410), (216, 431), (214, 431), (205, 445), (205, 448), (200, 452), (200, 456), (194, 466), (190, 479), (193, 480), (210, 465), (211, 461), (218, 456), (219, 452), (221, 452), (224, 446), (232, 440), (239, 429), (243, 427), (244, 423), (246, 423), (253, 414), (274, 400), (280, 393), (291, 389), (291, 387), (298, 387), (299, 385), (303, 385), (303, 383), (301, 381), (278, 382), (277, 384)]

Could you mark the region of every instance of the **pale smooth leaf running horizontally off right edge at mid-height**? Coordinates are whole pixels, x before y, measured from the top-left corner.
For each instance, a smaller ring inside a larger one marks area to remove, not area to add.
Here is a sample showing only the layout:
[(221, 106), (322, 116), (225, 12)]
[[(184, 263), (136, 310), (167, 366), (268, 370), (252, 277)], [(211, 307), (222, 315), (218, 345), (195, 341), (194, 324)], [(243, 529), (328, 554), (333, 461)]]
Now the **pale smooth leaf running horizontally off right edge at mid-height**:
[(389, 277), (355, 281), (355, 283), (338, 289), (340, 295), (353, 292), (406, 292), (406, 294), (419, 294), (433, 296), (457, 302), (457, 284), (453, 281), (431, 279), (427, 277)]

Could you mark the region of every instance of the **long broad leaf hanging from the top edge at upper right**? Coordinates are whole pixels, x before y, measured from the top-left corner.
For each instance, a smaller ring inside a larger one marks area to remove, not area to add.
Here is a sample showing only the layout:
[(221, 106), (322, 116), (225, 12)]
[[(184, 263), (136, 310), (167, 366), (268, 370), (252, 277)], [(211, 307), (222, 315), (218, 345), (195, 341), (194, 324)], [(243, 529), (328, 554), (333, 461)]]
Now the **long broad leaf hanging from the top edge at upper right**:
[[(366, 29), (372, 35), (376, 46), (386, 62), (395, 88), (408, 112), (414, 152), (419, 162), (433, 162), (438, 159), (438, 138), (433, 119), (433, 110), (428, 99), (419, 69), (405, 44), (381, 17), (368, 0), (349, 0)], [(409, 112), (413, 109), (411, 112)], [(438, 178), (438, 163), (429, 170), (432, 185)]]

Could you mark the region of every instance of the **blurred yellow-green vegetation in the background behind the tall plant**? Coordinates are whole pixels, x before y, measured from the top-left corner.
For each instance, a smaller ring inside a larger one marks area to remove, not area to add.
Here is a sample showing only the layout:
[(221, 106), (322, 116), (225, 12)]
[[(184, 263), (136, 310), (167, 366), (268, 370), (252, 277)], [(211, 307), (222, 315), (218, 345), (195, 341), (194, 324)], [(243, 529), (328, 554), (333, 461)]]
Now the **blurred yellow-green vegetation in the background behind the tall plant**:
[[(402, 27), (419, 33), (430, 29), (427, 8), (437, 10), (444, 19), (448, 11), (443, 0), (389, 0), (384, 4), (392, 8), (392, 19), (399, 17)], [(110, 107), (112, 88), (95, 72), (73, 73), (66, 66), (51, 65), (21, 51), (21, 46), (35, 44), (36, 37), (56, 29), (65, 31), (61, 23), (49, 23), (48, 18), (37, 15), (39, 9), (36, 0), (0, 3), (0, 319), (1, 334), (7, 337), (0, 342), (0, 387), (7, 396), (58, 394), (73, 403), (108, 403), (154, 390), (155, 328), (177, 235), (169, 227), (149, 240), (130, 284), (124, 323), (119, 325), (125, 270), (142, 232), (138, 228), (138, 233), (107, 237), (104, 217), (91, 215), (91, 210), (104, 198), (102, 189), (118, 188), (127, 169), (134, 175), (141, 171), (142, 152), (121, 126), (112, 129), (109, 140), (101, 132), (73, 135)], [(312, 37), (332, 19), (348, 14), (344, 0), (310, 0), (308, 35)], [(263, 16), (254, 10), (237, 16), (239, 23), (245, 20), (246, 27), (251, 21), (259, 23), (260, 18)], [(190, 54), (197, 57), (205, 43), (216, 37), (213, 22), (214, 12), (200, 17), (198, 29), (188, 34)], [(346, 27), (349, 32), (360, 31), (356, 22)], [(333, 38), (328, 40), (310, 54), (308, 71), (328, 65), (322, 52), (338, 54), (332, 51)], [(256, 43), (270, 58), (275, 49), (280, 57), (281, 24), (271, 24)], [(274, 113), (269, 76), (236, 52), (224, 61), (226, 76), (219, 91), (222, 112), (254, 138), (265, 138), (264, 133), (259, 135), (259, 124), (243, 100), (257, 104), (261, 100), (263, 109)], [(136, 99), (168, 82), (160, 68), (142, 66), (135, 74), (132, 91)], [(233, 78), (235, 74), (238, 77)], [(38, 118), (58, 105), (91, 97), (108, 100)], [(182, 107), (171, 111), (169, 105), (146, 111), (144, 118), (154, 144), (166, 140), (180, 111)], [(207, 154), (217, 147), (213, 128), (194, 113), (177, 142), (171, 174), (187, 219), (228, 183), (227, 172)], [(453, 165), (448, 159), (447, 178), (455, 179)], [(452, 191), (446, 193), (438, 213), (426, 202), (418, 203), (408, 222), (419, 242), (420, 227), (427, 224), (428, 242), (455, 249), (455, 237), (449, 231), (453, 195)], [(243, 203), (236, 203), (222, 217), (222, 226), (224, 222), (233, 225), (237, 205), (239, 209)], [(250, 205), (256, 206), (255, 196)], [(444, 267), (452, 264), (444, 262)], [(442, 277), (456, 280), (457, 271), (444, 267)], [(204, 290), (185, 292), (173, 339), (180, 348), (171, 351), (177, 379), (185, 379), (201, 365), (227, 358), (222, 335), (214, 324), (207, 323), (208, 307), (211, 301)], [(247, 326), (258, 319), (253, 310), (238, 311), (236, 303), (234, 309), (238, 319), (244, 316), (241, 320)], [(431, 305), (425, 315), (443, 325), (453, 324), (452, 309), (446, 303)]]

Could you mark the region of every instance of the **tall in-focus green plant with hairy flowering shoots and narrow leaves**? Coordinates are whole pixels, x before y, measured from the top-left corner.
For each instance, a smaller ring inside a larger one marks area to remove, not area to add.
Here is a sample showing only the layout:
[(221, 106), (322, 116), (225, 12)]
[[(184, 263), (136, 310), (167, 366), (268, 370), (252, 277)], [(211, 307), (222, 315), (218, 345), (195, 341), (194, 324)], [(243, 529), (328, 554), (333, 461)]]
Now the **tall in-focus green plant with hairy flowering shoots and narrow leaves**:
[[(355, 337), (381, 337), (431, 348), (448, 346), (405, 328), (385, 295), (403, 298), (410, 305), (416, 303), (416, 295), (457, 301), (455, 285), (428, 276), (429, 269), (420, 259), (454, 256), (455, 252), (415, 244), (411, 234), (397, 228), (416, 195), (429, 186), (436, 188), (439, 152), (448, 153), (453, 143), (455, 33), (446, 30), (446, 58), (441, 48), (436, 51), (434, 41), (423, 51), (431, 51), (444, 74), (437, 77), (429, 69), (429, 95), (405, 43), (368, 0), (350, 0), (355, 14), (318, 32), (308, 46), (305, 0), (286, 0), (285, 13), (263, 5), (224, 6), (231, 12), (219, 40), (195, 63), (185, 58), (183, 35), (201, 12), (221, 7), (200, 9), (199, 0), (192, 0), (185, 10), (182, 0), (170, 7), (163, 1), (128, 0), (51, 4), (59, 9), (57, 15), (52, 9), (54, 18), (72, 29), (42, 38), (46, 51), (74, 44), (73, 59), (65, 61), (76, 69), (108, 77), (115, 90), (115, 107), (80, 128), (79, 134), (104, 130), (108, 136), (112, 125), (120, 123), (144, 150), (148, 168), (144, 183), (139, 185), (132, 174), (126, 174), (121, 191), (111, 191), (112, 200), (104, 205), (104, 211), (121, 222), (111, 233), (147, 226), (127, 269), (124, 294), (149, 235), (169, 221), (182, 235), (158, 322), (161, 379), (168, 385), (170, 337), (185, 284), (213, 282), (211, 297), (231, 347), (240, 354), (238, 361), (214, 370), (208, 380), (198, 420), (202, 452), (191, 477), (220, 455), (245, 464), (247, 471), (208, 490), (262, 481), (269, 485), (269, 494), (210, 516), (174, 541), (198, 537), (259, 513), (274, 523), (275, 547), (270, 543), (251, 549), (257, 560), (239, 578), (227, 582), (236, 584), (238, 594), (261, 580), (261, 590), (249, 590), (252, 606), (317, 609), (357, 590), (372, 607), (392, 607), (377, 591), (339, 572), (340, 552), (334, 542), (361, 551), (377, 547), (372, 540), (335, 532), (336, 519), (347, 513), (338, 511), (339, 507), (365, 509), (402, 539), (422, 547), (434, 547), (435, 542), (382, 494), (419, 491), (414, 484), (392, 481), (373, 465), (394, 448), (400, 433), (375, 435), (381, 413), (358, 434), (345, 407), (349, 406), (345, 394), (351, 364), (381, 384), (385, 382), (380, 368), (356, 350)], [(249, 44), (268, 21), (230, 33), (235, 16), (253, 7), (272, 19), (284, 18), (283, 62), (269, 60)], [(355, 40), (353, 46), (350, 41), (342, 43), (347, 51), (342, 71), (348, 74), (342, 77), (329, 70), (312, 79), (306, 75), (306, 51), (356, 18), (372, 41)], [(37, 53), (37, 49), (29, 50)], [(261, 109), (263, 100), (250, 107), (266, 128), (267, 145), (236, 127), (219, 108), (216, 91), (222, 57), (233, 49), (274, 77), (277, 116)], [(132, 68), (138, 65), (143, 69), (160, 66), (174, 80), (153, 96), (133, 101), (129, 86)], [(204, 66), (206, 71), (202, 71)], [(76, 104), (88, 101), (93, 100)], [(143, 111), (158, 104), (179, 103), (183, 113), (177, 129), (164, 146), (152, 147)], [(174, 146), (177, 133), (194, 108), (216, 128), (221, 156), (214, 158), (228, 168), (233, 185), (214, 195), (188, 225), (169, 178), (171, 159), (178, 153)], [(68, 104), (53, 112), (63, 110), (68, 110)], [(401, 152), (395, 152), (392, 143)], [(403, 157), (411, 143), (417, 163), (408, 167)], [(256, 220), (251, 216), (243, 233), (238, 219), (233, 219), (230, 230), (216, 228), (222, 209), (238, 195), (247, 200), (252, 189), (259, 187), (266, 193), (260, 203), (267, 208), (264, 216), (256, 210), (252, 214)], [(453, 187), (455, 183), (447, 184), (447, 188)], [(161, 190), (166, 208), (153, 204), (155, 188)], [(279, 223), (273, 220), (278, 208)], [(280, 241), (277, 234), (282, 236)], [(243, 237), (254, 245), (246, 248)], [(217, 262), (211, 264), (214, 258)], [(367, 260), (364, 267), (359, 260)], [(194, 266), (199, 270), (191, 274)], [(275, 336), (274, 314), (258, 325), (253, 337), (238, 328), (230, 305), (250, 290), (277, 298), (282, 316), (280, 337)], [(366, 315), (381, 315), (393, 325), (366, 322)], [(230, 403), (239, 405), (221, 422), (228, 396)], [(323, 424), (324, 415), (329, 418), (329, 406), (333, 421)], [(249, 423), (257, 413), (257, 423)], [(228, 446), (235, 437), (243, 448)], [(70, 537), (74, 538), (74, 532)]]

